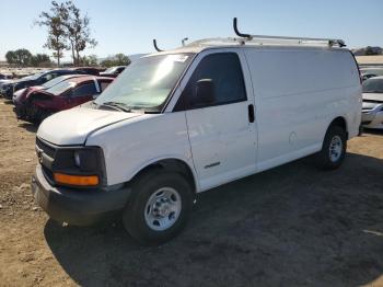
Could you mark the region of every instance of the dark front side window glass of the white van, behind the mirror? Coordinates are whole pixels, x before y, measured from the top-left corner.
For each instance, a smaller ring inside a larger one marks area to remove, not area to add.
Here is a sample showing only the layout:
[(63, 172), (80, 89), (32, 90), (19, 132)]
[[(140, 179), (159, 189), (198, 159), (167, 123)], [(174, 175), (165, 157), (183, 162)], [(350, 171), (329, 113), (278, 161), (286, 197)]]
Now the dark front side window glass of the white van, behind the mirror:
[[(200, 103), (197, 82), (209, 80), (213, 85), (214, 102)], [(246, 101), (246, 90), (239, 56), (235, 53), (218, 53), (206, 56), (197, 66), (183, 91), (175, 111), (223, 105)]]

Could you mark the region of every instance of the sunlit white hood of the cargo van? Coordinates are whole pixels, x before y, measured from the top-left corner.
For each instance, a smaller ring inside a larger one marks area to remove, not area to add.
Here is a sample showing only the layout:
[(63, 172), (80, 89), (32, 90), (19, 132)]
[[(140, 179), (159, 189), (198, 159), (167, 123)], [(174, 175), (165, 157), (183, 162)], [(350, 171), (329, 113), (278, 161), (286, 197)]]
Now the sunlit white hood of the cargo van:
[(74, 107), (47, 117), (37, 137), (58, 146), (83, 145), (91, 133), (138, 116), (142, 114)]

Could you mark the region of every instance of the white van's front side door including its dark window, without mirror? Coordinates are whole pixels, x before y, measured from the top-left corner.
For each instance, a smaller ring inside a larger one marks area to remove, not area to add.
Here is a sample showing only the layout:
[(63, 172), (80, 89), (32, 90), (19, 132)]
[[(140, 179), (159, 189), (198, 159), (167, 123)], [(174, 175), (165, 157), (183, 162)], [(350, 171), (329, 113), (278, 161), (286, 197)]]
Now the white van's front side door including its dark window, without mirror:
[[(245, 84), (242, 64), (245, 59), (241, 58), (234, 51), (208, 53), (194, 70), (176, 106), (186, 110), (201, 190), (256, 171), (254, 99), (251, 85)], [(212, 82), (212, 102), (201, 103), (198, 99), (196, 85), (200, 80)]]

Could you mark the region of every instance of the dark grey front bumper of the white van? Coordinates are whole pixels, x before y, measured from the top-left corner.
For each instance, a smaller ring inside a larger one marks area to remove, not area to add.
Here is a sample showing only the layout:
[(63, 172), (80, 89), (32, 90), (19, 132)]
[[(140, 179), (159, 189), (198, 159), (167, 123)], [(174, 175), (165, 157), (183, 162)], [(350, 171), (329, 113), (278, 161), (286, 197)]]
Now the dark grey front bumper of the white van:
[(130, 190), (116, 191), (55, 187), (37, 165), (32, 177), (32, 193), (36, 203), (50, 218), (73, 226), (90, 226), (120, 211), (127, 204)]

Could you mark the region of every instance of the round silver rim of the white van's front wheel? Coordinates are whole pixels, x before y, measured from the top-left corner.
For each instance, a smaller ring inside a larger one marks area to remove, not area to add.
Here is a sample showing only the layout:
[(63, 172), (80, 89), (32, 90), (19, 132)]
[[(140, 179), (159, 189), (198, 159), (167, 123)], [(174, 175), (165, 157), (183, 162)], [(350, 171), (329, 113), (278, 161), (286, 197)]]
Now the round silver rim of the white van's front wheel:
[(162, 187), (149, 197), (144, 208), (144, 219), (151, 229), (163, 231), (177, 221), (181, 209), (181, 196), (177, 191), (172, 187)]

